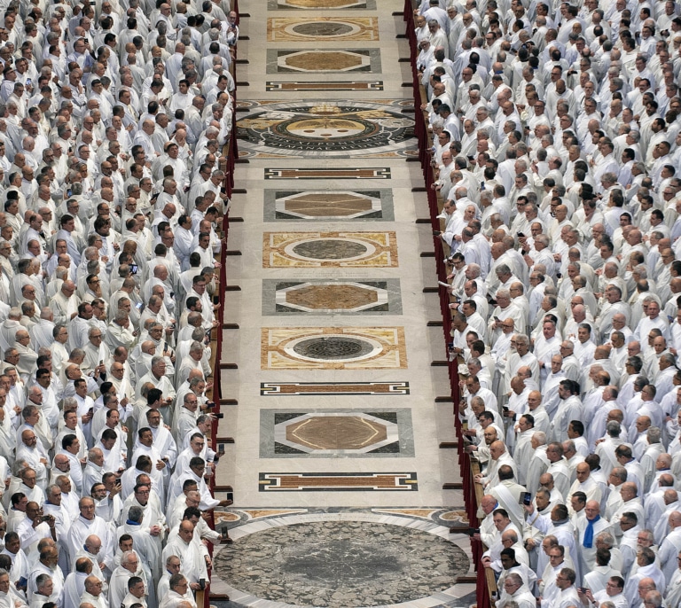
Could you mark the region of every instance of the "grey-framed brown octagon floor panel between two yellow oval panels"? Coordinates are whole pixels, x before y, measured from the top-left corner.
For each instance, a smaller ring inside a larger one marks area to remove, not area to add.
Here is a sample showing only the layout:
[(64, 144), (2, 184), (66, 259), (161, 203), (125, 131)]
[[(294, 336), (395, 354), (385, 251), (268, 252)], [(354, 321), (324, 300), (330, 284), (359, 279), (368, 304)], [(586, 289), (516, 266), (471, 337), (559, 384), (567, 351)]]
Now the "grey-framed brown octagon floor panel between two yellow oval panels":
[(370, 315), (402, 313), (399, 279), (305, 279), (262, 282), (263, 315)]

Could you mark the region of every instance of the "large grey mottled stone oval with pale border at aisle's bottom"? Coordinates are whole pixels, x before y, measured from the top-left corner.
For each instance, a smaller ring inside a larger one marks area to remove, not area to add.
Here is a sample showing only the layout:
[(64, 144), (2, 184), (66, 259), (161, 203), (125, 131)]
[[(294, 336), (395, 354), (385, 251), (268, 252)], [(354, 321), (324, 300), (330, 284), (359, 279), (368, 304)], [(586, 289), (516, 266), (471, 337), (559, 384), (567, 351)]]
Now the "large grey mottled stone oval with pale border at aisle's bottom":
[[(277, 527), (262, 529), (261, 521), (233, 528), (234, 543), (217, 553), (215, 571), (233, 602), (262, 608), (435, 606), (455, 599), (457, 577), (469, 571), (466, 552), (442, 526), (392, 519), (286, 525), (280, 518)], [(239, 536), (242, 529), (246, 535)]]

